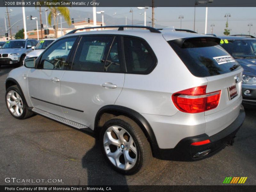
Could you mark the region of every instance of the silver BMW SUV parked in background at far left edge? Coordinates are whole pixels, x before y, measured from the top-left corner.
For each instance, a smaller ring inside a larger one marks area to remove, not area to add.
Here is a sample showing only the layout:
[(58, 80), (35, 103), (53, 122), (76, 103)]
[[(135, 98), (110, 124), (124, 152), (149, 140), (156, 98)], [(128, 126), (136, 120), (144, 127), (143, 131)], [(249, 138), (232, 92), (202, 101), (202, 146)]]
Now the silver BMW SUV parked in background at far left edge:
[(38, 43), (35, 39), (16, 39), (6, 41), (0, 49), (0, 66), (21, 66), (26, 55), (32, 51), (31, 47)]

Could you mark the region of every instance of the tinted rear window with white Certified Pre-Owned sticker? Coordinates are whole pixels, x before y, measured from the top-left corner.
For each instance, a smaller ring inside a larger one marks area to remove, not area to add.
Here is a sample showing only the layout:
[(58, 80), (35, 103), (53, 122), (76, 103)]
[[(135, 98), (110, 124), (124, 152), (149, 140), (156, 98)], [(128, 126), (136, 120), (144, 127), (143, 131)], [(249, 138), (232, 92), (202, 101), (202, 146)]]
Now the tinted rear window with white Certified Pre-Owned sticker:
[(241, 66), (215, 38), (190, 38), (168, 41), (188, 70), (198, 77), (215, 76)]

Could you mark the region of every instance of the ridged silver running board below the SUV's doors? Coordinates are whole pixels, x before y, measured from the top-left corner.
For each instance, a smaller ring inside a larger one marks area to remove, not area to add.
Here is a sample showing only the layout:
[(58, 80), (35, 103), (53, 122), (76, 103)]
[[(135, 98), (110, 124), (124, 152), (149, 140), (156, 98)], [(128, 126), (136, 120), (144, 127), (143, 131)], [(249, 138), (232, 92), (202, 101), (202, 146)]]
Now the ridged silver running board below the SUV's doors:
[(63, 117), (60, 117), (60, 116), (57, 116), (57, 115), (53, 115), (51, 113), (48, 113), (46, 111), (43, 111), (41, 109), (38, 109), (38, 108), (32, 108), (32, 111), (39, 114), (39, 115), (42, 115), (42, 116), (46, 116), (50, 119), (53, 119), (55, 121), (59, 121), (63, 124), (67, 124), (71, 127), (75, 127), (77, 129), (83, 129), (83, 130), (88, 130), (88, 131), (92, 131), (89, 127), (85, 126), (85, 125), (82, 125), (82, 124), (79, 124), (79, 123), (76, 123), (74, 121), (70, 121), (68, 119), (65, 119)]

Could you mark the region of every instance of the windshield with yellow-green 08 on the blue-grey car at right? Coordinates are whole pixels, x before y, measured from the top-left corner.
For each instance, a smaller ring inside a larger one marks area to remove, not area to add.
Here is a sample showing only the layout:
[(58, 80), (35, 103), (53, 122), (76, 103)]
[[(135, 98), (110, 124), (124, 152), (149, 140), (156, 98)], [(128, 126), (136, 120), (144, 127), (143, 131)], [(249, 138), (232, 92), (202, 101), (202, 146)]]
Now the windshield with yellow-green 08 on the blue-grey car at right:
[(223, 39), (220, 45), (234, 58), (255, 58), (256, 40), (242, 39), (229, 40)]

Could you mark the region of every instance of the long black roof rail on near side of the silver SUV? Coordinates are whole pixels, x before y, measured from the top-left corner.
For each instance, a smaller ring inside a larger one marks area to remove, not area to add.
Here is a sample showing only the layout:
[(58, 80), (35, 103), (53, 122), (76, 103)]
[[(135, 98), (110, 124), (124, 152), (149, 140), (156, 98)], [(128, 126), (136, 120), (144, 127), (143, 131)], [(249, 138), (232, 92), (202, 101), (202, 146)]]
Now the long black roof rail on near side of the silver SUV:
[(148, 29), (151, 33), (161, 33), (161, 31), (159, 31), (156, 28), (153, 27), (147, 27), (147, 26), (131, 26), (131, 25), (114, 25), (114, 26), (100, 26), (100, 27), (85, 27), (85, 28), (79, 28), (79, 29), (74, 29), (70, 32), (68, 32), (66, 35), (68, 34), (73, 34), (76, 31), (79, 30), (84, 30), (84, 29), (99, 29), (99, 28), (118, 28), (118, 31), (123, 31), (124, 28), (143, 28), (143, 29)]

